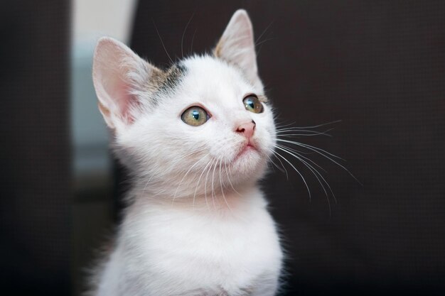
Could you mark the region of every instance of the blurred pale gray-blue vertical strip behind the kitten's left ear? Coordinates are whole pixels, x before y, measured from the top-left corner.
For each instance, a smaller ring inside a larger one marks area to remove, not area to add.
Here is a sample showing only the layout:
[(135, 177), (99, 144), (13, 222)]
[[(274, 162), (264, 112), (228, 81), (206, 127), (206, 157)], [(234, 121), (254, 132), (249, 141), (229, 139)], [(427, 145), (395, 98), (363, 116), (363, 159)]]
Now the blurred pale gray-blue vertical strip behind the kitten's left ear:
[(71, 135), (75, 177), (107, 174), (108, 133), (92, 85), (92, 54), (107, 35), (127, 43), (135, 0), (74, 0), (71, 49)]

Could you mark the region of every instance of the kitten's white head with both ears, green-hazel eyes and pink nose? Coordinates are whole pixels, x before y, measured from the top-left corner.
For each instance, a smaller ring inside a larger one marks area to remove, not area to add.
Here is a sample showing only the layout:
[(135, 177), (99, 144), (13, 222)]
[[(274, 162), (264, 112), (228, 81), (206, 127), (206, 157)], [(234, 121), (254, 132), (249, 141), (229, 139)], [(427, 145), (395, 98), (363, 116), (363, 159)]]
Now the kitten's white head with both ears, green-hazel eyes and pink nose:
[(264, 175), (275, 127), (245, 11), (232, 16), (213, 55), (168, 70), (102, 38), (93, 80), (115, 153), (146, 191), (198, 198)]

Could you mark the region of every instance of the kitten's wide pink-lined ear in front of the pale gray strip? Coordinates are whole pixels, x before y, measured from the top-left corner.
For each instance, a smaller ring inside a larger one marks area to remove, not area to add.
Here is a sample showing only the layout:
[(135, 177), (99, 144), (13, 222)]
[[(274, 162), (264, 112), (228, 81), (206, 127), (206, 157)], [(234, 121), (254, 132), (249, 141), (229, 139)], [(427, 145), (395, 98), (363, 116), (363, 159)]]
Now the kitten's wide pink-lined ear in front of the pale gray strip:
[(131, 124), (141, 102), (135, 92), (142, 90), (151, 75), (161, 71), (112, 38), (100, 38), (92, 64), (99, 109), (110, 128)]

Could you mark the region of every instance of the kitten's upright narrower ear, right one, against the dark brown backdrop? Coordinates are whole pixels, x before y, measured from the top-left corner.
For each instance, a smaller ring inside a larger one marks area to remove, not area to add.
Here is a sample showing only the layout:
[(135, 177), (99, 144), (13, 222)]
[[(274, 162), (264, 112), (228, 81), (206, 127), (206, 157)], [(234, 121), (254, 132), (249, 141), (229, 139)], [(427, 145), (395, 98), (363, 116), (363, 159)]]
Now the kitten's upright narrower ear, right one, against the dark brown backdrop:
[(252, 23), (244, 9), (233, 14), (214, 54), (215, 57), (240, 67), (252, 83), (259, 82)]

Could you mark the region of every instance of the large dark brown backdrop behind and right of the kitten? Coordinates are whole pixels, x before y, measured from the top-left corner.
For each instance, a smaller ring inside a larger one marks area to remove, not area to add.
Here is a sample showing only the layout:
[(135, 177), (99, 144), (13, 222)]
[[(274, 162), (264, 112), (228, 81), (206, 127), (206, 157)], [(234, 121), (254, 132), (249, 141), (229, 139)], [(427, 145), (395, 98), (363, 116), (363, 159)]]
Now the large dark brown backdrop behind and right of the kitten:
[[(264, 189), (289, 251), (286, 295), (445, 292), (444, 1), (141, 1), (132, 48), (158, 65), (210, 50), (238, 8), (259, 38), (259, 72), (284, 123), (341, 119), (333, 138), (300, 141), (326, 159), (336, 194), (300, 164)], [(191, 18), (193, 16), (193, 18)], [(193, 38), (194, 36), (194, 38)], [(289, 168), (288, 168), (289, 170)]]

